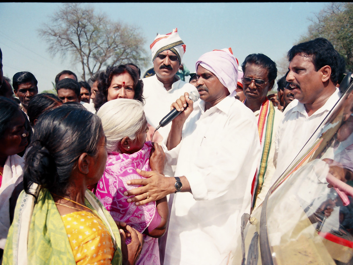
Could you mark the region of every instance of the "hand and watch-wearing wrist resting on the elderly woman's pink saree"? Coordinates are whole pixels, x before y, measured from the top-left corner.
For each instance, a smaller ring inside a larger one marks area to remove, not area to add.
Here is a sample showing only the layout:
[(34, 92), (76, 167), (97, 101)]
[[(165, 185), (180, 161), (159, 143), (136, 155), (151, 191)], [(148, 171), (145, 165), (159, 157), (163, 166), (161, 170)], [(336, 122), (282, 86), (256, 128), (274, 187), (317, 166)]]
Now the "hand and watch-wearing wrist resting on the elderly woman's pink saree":
[[(124, 192), (125, 196), (134, 195), (134, 197), (127, 199), (128, 202), (135, 201), (136, 205), (144, 205), (151, 201), (158, 201), (167, 196), (168, 194), (175, 192), (175, 178), (166, 177), (155, 171), (143, 171), (139, 169), (137, 169), (136, 171), (145, 178), (131, 179), (130, 181), (126, 182), (126, 184), (143, 186)], [(181, 183), (183, 183), (183, 188), (181, 189), (181, 192), (191, 192), (190, 184), (189, 181), (187, 181), (186, 177), (181, 176), (180, 180)]]

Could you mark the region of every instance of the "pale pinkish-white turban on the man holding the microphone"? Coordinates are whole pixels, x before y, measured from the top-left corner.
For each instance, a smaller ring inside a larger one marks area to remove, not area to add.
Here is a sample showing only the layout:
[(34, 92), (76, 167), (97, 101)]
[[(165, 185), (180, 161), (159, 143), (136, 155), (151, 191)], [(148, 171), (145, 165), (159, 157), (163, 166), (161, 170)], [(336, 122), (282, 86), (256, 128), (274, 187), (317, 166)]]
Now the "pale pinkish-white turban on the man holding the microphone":
[(238, 82), (239, 63), (238, 59), (234, 57), (231, 48), (213, 50), (201, 55), (196, 62), (196, 71), (199, 65), (214, 73), (232, 96), (237, 94), (235, 89)]

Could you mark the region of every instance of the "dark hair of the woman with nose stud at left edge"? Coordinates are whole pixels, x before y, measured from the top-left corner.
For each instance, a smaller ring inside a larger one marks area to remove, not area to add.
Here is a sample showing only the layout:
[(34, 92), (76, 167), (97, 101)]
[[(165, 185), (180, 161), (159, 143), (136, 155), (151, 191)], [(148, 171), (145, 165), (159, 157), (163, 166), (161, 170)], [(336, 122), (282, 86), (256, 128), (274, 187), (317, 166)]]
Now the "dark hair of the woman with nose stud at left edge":
[(11, 99), (0, 96), (0, 139), (4, 136), (5, 130), (8, 128), (14, 114), (20, 113), (20, 108)]

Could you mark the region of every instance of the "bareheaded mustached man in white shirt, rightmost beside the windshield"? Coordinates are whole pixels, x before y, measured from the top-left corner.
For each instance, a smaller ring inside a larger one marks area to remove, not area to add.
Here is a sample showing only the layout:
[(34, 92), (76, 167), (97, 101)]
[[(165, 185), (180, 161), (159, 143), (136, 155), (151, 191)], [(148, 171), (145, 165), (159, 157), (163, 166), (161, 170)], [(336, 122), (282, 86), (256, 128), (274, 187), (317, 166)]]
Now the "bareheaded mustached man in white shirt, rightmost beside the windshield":
[(340, 98), (336, 84), (345, 70), (343, 58), (324, 38), (293, 46), (288, 58), (286, 81), (296, 100), (286, 107), (277, 130), (277, 164), (272, 183), (292, 163)]

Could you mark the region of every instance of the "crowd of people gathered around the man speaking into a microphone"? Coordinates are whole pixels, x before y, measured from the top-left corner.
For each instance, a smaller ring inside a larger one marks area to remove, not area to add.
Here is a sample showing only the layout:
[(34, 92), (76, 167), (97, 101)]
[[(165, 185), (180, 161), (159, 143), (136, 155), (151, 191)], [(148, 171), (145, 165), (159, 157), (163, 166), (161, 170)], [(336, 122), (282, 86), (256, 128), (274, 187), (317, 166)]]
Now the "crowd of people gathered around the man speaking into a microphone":
[[(150, 48), (155, 75), (141, 79), (128, 63), (78, 82), (64, 70), (57, 95), (38, 94), (27, 71), (11, 86), (0, 50), (2, 264), (240, 262), (243, 214), (341, 95), (345, 62), (323, 38), (289, 50), (278, 100), (264, 54), (240, 64), (215, 49), (185, 82), (177, 29)], [(173, 108), (180, 114), (160, 126)]]

